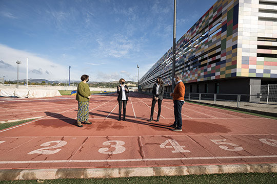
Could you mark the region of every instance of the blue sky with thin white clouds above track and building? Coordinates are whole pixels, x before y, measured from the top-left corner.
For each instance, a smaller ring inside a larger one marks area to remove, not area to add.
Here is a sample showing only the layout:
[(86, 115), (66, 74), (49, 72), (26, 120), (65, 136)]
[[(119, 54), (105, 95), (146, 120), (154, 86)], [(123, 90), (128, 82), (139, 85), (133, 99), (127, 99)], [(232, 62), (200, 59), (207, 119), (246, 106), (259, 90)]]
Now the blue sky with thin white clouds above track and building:
[[(216, 0), (176, 1), (176, 41)], [(173, 0), (0, 0), (0, 77), (137, 81), (173, 44)]]

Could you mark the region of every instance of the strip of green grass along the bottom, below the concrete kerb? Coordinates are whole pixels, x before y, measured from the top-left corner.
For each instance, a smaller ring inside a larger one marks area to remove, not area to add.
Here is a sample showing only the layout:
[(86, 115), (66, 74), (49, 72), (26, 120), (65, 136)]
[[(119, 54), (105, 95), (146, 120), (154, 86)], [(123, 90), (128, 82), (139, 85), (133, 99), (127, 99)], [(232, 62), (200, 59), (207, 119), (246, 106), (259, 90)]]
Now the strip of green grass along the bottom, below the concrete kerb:
[(0, 183), (277, 183), (277, 173), (235, 173), (235, 174), (209, 174), (186, 176), (150, 176), (150, 177), (126, 177), (126, 178), (100, 178), (100, 179), (53, 179), (53, 180), (15, 180), (0, 181)]

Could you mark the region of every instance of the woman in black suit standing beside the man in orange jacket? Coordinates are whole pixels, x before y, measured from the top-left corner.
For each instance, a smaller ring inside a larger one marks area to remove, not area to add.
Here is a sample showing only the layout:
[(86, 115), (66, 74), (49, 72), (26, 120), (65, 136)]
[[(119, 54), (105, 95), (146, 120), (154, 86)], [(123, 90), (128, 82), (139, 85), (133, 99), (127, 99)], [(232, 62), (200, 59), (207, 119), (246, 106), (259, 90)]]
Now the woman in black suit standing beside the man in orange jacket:
[(165, 86), (164, 86), (163, 79), (161, 77), (158, 77), (152, 89), (153, 98), (152, 98), (152, 105), (151, 105), (150, 120), (148, 120), (149, 122), (153, 120), (153, 113), (154, 113), (156, 101), (158, 101), (158, 108), (159, 108), (156, 122), (159, 122), (160, 120), (164, 91), (165, 91)]

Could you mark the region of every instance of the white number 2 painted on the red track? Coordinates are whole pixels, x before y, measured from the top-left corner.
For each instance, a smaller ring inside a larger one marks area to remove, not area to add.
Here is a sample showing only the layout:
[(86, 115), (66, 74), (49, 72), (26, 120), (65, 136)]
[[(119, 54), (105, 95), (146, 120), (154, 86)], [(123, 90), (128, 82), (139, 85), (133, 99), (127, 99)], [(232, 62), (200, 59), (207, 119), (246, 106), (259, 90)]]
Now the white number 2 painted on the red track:
[[(51, 143), (56, 143), (56, 145), (50, 146)], [(56, 149), (56, 150), (49, 150), (49, 149), (60, 148), (60, 147), (65, 146), (66, 144), (67, 144), (67, 142), (65, 142), (65, 141), (49, 141), (47, 143), (41, 144), (41, 146), (43, 146), (43, 147), (45, 147), (45, 146), (49, 146), (49, 147), (40, 148), (40, 149), (31, 151), (28, 154), (47, 154), (47, 155), (48, 154), (55, 154), (55, 153), (61, 151), (62, 149)]]

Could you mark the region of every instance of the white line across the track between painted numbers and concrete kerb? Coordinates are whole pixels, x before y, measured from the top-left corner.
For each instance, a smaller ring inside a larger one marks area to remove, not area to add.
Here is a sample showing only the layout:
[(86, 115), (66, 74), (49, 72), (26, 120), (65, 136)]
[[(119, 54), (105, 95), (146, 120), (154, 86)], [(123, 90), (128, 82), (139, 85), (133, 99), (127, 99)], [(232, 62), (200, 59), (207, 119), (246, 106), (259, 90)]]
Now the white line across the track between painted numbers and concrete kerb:
[(39, 163), (102, 163), (102, 162), (145, 162), (171, 160), (209, 160), (209, 159), (238, 159), (238, 158), (276, 158), (277, 155), (260, 156), (208, 156), (208, 157), (181, 157), (181, 158), (134, 158), (134, 159), (100, 159), (100, 160), (26, 160), (2, 161), (0, 164), (39, 164)]

